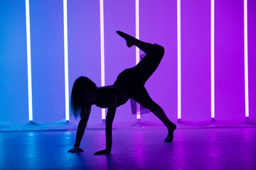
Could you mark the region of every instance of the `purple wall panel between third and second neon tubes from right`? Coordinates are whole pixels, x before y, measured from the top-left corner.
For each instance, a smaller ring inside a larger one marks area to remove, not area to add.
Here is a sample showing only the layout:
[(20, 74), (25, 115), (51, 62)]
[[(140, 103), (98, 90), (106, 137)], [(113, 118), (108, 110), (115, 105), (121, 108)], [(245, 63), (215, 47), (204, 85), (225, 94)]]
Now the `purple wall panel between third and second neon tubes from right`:
[(210, 1), (181, 1), (181, 119), (210, 118)]

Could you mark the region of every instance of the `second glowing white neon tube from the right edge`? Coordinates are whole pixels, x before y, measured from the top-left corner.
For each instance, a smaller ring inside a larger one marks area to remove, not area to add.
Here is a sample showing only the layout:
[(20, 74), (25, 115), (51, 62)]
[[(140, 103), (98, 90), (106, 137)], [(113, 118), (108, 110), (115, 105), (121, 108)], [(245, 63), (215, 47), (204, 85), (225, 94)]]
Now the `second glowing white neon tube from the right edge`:
[(214, 0), (210, 0), (210, 117), (215, 118), (214, 87)]

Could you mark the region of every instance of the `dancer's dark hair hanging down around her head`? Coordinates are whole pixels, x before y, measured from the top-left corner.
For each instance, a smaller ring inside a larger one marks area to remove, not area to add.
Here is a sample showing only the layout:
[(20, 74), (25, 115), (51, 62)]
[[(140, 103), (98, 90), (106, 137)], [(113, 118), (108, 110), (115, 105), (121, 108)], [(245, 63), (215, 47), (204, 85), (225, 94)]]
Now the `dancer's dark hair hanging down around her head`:
[(75, 116), (75, 119), (78, 118), (78, 115), (82, 118), (82, 114), (87, 108), (87, 103), (82, 102), (85, 91), (95, 91), (96, 89), (96, 84), (87, 77), (78, 77), (75, 80), (70, 97), (70, 110)]

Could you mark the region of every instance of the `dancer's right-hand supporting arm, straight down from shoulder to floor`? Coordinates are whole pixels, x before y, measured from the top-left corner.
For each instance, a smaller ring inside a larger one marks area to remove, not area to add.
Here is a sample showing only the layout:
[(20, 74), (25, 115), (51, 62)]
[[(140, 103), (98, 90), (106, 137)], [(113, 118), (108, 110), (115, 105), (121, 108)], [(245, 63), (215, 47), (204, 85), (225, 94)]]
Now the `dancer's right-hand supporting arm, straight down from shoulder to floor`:
[(110, 94), (107, 97), (107, 117), (106, 117), (106, 149), (95, 152), (95, 154), (110, 154), (112, 149), (112, 123), (117, 110), (117, 96)]

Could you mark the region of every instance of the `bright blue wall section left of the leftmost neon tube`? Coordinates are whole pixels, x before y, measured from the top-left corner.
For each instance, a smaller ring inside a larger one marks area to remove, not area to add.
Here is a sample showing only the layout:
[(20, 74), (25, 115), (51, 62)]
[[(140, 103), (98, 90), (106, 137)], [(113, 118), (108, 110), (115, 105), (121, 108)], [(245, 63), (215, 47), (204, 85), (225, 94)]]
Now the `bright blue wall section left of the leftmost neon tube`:
[(0, 121), (28, 121), (25, 1), (0, 1)]

